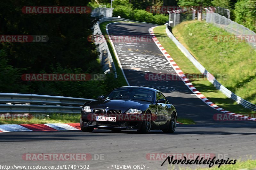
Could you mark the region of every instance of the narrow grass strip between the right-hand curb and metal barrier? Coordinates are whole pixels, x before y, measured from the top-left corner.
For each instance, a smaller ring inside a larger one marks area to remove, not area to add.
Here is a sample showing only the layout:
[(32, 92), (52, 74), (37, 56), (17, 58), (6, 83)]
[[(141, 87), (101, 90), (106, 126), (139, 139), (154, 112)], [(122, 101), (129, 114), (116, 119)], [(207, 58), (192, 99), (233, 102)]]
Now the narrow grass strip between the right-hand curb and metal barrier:
[[(181, 23), (182, 24), (182, 23)], [(154, 29), (154, 33), (158, 41), (163, 45), (165, 50), (172, 56), (174, 61), (179, 65), (184, 73), (188, 74), (201, 74), (200, 71), (191, 63), (188, 58), (180, 51), (180, 49), (173, 43), (173, 41), (165, 33), (165, 26), (158, 26)], [(205, 97), (211, 100), (228, 111), (237, 114), (255, 114), (252, 110), (246, 109), (237, 104), (234, 100), (229, 99), (222, 92), (217, 90), (208, 80), (203, 78), (197, 78), (196, 80), (190, 80), (193, 85), (198, 89)]]

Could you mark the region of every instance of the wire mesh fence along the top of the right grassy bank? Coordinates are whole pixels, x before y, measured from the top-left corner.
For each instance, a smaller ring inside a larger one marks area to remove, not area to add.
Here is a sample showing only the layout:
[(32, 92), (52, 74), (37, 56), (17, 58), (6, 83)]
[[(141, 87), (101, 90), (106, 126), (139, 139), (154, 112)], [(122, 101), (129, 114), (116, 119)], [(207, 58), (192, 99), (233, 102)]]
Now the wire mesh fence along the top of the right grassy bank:
[(247, 42), (256, 49), (256, 33), (214, 11), (212, 8), (206, 8), (206, 22), (213, 23), (215, 26), (233, 33), (235, 37), (229, 41)]

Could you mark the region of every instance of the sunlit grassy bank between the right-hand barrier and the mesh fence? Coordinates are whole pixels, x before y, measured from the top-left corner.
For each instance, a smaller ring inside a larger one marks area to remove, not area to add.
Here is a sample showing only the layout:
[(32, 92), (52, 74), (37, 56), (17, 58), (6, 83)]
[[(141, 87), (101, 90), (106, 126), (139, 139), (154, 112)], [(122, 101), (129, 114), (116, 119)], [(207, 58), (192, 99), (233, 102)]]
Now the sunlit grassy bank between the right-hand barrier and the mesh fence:
[(182, 22), (172, 32), (222, 85), (256, 103), (256, 50), (248, 43), (230, 42), (222, 36), (233, 34), (204, 21)]

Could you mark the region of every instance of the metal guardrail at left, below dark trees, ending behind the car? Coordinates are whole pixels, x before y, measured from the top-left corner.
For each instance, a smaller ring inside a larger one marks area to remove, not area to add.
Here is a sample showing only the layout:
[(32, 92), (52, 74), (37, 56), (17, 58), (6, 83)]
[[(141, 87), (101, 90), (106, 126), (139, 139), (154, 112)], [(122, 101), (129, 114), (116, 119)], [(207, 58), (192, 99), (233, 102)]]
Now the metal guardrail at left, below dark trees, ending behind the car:
[(38, 94), (0, 93), (0, 113), (81, 113), (92, 99)]

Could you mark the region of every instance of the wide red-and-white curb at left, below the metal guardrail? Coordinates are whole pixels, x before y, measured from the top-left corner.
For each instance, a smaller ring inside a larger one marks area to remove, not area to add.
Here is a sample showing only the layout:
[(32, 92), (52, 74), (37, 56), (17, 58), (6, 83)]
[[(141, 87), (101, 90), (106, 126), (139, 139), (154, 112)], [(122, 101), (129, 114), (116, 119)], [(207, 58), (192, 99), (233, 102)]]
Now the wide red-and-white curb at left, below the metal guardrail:
[[(182, 124), (177, 122), (177, 124)], [(1, 132), (81, 130), (80, 123), (3, 124)]]

